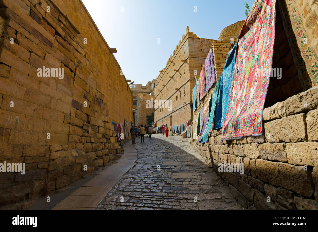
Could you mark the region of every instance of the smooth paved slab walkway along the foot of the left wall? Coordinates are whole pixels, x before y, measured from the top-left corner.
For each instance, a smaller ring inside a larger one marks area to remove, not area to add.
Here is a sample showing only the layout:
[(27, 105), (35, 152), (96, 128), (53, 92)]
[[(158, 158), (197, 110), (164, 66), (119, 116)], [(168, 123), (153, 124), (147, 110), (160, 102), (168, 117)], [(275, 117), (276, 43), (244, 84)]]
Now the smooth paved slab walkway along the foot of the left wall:
[(82, 187), (74, 191), (58, 203), (52, 210), (92, 210), (107, 195), (109, 190), (123, 177), (123, 175), (135, 165), (137, 151), (128, 141), (124, 146), (124, 155), (106, 169), (100, 171)]

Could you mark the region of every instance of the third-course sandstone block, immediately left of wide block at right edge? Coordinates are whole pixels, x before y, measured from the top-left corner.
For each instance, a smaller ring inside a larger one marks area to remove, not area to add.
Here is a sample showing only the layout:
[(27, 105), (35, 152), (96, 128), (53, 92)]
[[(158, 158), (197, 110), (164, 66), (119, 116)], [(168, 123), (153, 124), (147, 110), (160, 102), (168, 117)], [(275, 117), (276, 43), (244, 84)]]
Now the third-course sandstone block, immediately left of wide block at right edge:
[(285, 143), (264, 143), (259, 145), (261, 159), (287, 162)]

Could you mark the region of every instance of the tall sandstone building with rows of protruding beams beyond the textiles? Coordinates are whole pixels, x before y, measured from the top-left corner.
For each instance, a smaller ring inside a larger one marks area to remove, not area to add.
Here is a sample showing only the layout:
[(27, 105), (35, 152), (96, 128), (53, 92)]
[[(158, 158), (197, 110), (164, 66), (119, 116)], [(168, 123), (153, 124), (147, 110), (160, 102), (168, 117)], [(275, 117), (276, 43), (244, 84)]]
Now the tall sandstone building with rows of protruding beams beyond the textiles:
[(170, 55), (166, 67), (156, 78), (156, 100), (172, 100), (172, 111), (155, 109), (158, 125), (180, 125), (192, 119), (192, 89), (195, 86), (195, 72), (200, 74), (202, 65), (215, 40), (198, 37), (186, 29), (176, 50)]

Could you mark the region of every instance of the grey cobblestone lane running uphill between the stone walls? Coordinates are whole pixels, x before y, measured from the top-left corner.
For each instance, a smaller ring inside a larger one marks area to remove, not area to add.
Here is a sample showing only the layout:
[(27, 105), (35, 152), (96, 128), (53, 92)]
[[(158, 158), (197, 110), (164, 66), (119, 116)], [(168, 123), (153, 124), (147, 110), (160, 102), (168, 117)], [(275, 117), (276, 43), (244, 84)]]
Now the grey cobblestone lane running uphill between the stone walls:
[[(189, 139), (154, 134), (145, 143), (137, 138), (135, 148), (135, 166), (96, 209), (243, 209)], [(135, 154), (132, 147), (126, 152)]]

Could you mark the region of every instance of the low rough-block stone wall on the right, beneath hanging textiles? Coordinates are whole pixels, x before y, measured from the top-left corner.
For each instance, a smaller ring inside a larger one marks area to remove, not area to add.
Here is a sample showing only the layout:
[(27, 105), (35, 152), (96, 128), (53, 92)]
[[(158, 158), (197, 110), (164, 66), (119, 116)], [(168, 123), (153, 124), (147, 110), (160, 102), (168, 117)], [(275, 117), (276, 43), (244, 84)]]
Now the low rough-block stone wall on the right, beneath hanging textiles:
[[(318, 87), (265, 108), (264, 134), (221, 140), (221, 129), (196, 147), (247, 209), (318, 209)], [(220, 172), (224, 162), (245, 171)], [(268, 202), (270, 197), (270, 202)]]

